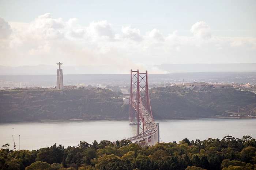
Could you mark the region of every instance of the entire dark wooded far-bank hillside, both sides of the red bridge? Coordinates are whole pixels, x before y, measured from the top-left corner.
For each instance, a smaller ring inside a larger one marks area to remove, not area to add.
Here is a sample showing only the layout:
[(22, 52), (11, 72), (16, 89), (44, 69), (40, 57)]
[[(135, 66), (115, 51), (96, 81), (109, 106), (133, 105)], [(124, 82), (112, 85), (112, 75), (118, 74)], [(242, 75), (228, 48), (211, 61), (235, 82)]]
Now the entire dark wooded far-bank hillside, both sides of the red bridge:
[[(127, 119), (129, 106), (121, 91), (87, 88), (72, 90), (16, 89), (0, 91), (0, 122)], [(149, 90), (155, 119), (205, 118), (214, 115), (256, 115), (255, 94), (234, 88), (194, 92), (167, 86)]]

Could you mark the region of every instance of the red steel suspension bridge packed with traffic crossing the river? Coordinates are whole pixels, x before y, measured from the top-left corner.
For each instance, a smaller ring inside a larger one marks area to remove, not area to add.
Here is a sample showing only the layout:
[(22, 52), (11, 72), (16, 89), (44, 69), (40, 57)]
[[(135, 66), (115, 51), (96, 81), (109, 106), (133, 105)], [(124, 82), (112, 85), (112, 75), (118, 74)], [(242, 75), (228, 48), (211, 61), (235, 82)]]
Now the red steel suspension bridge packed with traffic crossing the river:
[[(146, 73), (131, 70), (131, 86), (129, 94), (130, 123), (137, 125), (137, 135), (128, 138), (138, 144), (155, 145), (159, 142), (159, 123), (154, 122), (151, 112), (148, 78)], [(137, 120), (137, 122), (133, 122)], [(140, 125), (141, 124), (141, 125)]]

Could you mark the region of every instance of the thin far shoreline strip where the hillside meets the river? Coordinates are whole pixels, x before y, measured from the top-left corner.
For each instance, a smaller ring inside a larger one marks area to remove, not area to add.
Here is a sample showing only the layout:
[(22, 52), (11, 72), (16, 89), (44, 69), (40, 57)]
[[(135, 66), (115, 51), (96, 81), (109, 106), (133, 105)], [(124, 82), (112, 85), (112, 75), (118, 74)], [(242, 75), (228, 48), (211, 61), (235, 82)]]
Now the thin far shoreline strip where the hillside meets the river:
[[(222, 119), (255, 119), (256, 117), (252, 116), (210, 116), (210, 117), (199, 117), (199, 118), (168, 118), (168, 119), (154, 119), (154, 120), (186, 120), (186, 119), (214, 119), (214, 118), (222, 118)], [(44, 121), (72, 121), (72, 120), (129, 120), (129, 119), (40, 119), (40, 120), (11, 120), (11, 121), (0, 121), (0, 123), (19, 123), (19, 122), (44, 122)]]

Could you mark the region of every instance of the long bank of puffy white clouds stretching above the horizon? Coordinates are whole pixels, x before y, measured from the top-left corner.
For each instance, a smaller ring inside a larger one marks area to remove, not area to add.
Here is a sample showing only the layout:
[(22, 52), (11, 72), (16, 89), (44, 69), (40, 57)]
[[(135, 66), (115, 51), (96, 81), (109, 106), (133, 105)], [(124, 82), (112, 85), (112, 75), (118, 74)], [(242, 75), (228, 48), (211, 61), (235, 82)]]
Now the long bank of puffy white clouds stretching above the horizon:
[(241, 57), (243, 61), (256, 62), (255, 37), (216, 37), (203, 21), (192, 25), (193, 36), (179, 36), (178, 30), (164, 36), (158, 29), (142, 34), (131, 26), (116, 33), (105, 20), (81, 26), (76, 18), (63, 21), (52, 18), (50, 13), (29, 24), (11, 23), (10, 27), (2, 18), (0, 24), (5, 25), (0, 28), (0, 36), (5, 39), (0, 39), (0, 60), (4, 66), (62, 62), (67, 66), (116, 65), (120, 72), (143, 68), (160, 73), (146, 65), (239, 63)]

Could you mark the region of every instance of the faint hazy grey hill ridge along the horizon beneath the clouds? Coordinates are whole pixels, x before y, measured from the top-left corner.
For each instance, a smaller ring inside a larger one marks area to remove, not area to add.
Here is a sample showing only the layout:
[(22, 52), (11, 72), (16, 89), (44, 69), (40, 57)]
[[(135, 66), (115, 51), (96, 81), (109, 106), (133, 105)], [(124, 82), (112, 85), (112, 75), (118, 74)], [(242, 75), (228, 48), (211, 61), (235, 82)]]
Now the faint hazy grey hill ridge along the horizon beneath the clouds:
[[(0, 66), (0, 75), (55, 75), (57, 65)], [(123, 74), (120, 66), (61, 66), (63, 74)], [(158, 68), (161, 72), (253, 72), (256, 71), (256, 63), (247, 64), (160, 64), (147, 66), (147, 68)], [(133, 68), (137, 69), (137, 68)], [(148, 70), (150, 71), (150, 69)], [(129, 71), (125, 71), (129, 72)], [(152, 71), (153, 72), (153, 71)]]

